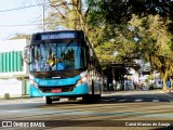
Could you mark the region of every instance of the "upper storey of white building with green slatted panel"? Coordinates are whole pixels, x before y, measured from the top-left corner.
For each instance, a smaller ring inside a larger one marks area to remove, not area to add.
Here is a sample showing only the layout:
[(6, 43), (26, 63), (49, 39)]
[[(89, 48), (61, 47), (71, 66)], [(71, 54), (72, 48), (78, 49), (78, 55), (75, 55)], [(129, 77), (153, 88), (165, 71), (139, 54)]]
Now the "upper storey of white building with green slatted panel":
[(28, 76), (28, 67), (23, 61), (23, 51), (28, 44), (27, 39), (0, 42), (0, 78)]

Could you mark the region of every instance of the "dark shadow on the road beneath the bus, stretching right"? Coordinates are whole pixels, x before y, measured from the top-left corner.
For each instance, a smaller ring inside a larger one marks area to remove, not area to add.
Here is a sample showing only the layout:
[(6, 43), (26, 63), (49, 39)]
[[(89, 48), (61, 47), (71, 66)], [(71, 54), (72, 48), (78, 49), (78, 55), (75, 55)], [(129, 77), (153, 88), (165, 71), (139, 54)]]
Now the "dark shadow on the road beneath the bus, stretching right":
[(131, 95), (105, 95), (98, 101), (65, 101), (65, 102), (53, 102), (51, 105), (45, 106), (54, 106), (54, 105), (76, 105), (76, 104), (118, 104), (118, 103), (169, 103), (171, 102), (169, 98), (163, 94), (131, 94)]

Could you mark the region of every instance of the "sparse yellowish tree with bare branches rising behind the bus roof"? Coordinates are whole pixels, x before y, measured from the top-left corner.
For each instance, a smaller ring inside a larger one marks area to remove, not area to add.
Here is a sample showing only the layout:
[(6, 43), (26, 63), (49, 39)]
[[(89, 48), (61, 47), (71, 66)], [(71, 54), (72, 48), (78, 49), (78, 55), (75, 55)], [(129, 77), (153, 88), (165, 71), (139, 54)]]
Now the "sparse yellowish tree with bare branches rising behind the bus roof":
[[(102, 0), (48, 0), (48, 2), (50, 3), (50, 9), (46, 11), (49, 13), (44, 22), (52, 24), (48, 24), (45, 26), (46, 29), (54, 30), (63, 26), (68, 29), (83, 30), (95, 49), (96, 55), (99, 56), (103, 53), (99, 60), (105, 60), (103, 55), (108, 52), (103, 51), (103, 47), (99, 47), (104, 41), (103, 36), (105, 29), (102, 27), (104, 24), (97, 23), (102, 20), (93, 14), (101, 13), (99, 11), (102, 10), (98, 6)], [(97, 21), (95, 24), (97, 23), (98, 25), (94, 25), (94, 21)], [(110, 56), (110, 53), (109, 57), (111, 60), (109, 61), (114, 61), (115, 56)]]

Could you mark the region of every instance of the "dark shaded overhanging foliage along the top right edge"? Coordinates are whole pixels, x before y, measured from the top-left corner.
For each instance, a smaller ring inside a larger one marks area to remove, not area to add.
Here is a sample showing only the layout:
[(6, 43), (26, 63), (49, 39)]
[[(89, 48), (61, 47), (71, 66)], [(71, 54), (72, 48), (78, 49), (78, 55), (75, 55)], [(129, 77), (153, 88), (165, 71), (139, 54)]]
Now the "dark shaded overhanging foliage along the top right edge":
[(171, 0), (104, 0), (101, 6), (108, 23), (128, 23), (132, 15), (145, 17), (149, 14), (173, 20), (173, 1)]

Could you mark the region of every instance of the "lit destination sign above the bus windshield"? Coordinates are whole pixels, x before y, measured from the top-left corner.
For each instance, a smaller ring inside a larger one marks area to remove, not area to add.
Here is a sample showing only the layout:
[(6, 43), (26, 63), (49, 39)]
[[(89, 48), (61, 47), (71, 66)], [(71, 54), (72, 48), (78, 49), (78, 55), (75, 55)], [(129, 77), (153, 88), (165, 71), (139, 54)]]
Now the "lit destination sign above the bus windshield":
[(54, 39), (66, 39), (76, 38), (75, 32), (54, 32), (54, 34), (42, 34), (41, 40), (54, 40)]

